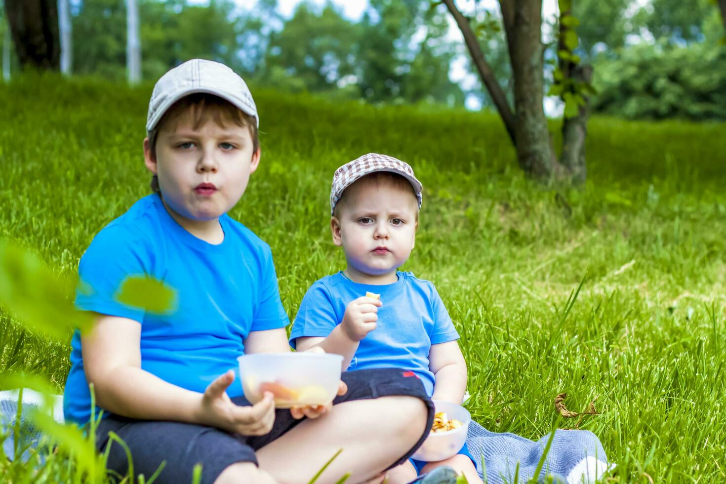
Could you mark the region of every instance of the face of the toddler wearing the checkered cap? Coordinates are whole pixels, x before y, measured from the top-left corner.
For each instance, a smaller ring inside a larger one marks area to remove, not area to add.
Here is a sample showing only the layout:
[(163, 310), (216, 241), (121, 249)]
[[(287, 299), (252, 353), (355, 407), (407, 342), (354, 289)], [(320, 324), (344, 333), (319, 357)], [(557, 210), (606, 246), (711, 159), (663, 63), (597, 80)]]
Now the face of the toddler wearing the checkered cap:
[(391, 181), (362, 179), (346, 189), (346, 200), (330, 220), (333, 242), (348, 266), (363, 274), (395, 271), (413, 250), (418, 202), (412, 189)]

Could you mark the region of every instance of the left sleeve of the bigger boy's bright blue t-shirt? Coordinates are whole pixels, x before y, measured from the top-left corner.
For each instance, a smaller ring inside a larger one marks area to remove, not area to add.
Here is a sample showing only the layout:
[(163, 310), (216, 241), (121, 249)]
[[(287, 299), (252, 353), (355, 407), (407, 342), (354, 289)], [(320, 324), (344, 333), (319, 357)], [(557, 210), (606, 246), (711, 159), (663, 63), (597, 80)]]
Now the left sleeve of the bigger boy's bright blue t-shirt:
[(118, 301), (129, 276), (148, 274), (147, 250), (141, 240), (118, 226), (107, 226), (94, 237), (78, 263), (76, 307), (142, 322), (144, 310)]

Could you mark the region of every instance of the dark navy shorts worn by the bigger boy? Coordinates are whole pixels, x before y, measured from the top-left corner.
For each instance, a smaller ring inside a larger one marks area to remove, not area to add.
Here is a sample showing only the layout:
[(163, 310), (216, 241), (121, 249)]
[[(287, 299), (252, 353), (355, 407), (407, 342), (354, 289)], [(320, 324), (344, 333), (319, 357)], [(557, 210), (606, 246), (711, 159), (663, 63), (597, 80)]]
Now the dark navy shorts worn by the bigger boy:
[[(404, 377), (404, 372), (393, 368), (344, 372), (341, 380), (348, 385), (348, 393), (336, 397), (333, 404), (395, 395), (417, 397), (426, 403), (426, 432), (391, 467), (405, 462), (423, 443), (433, 423), (433, 403), (420, 380)], [(237, 405), (250, 404), (244, 397), (232, 398), (232, 401)], [(134, 475), (143, 474), (148, 479), (166, 461), (156, 483), (191, 483), (193, 469), (199, 463), (203, 464), (201, 482), (213, 483), (224, 469), (235, 462), (257, 464), (257, 449), (284, 435), (301, 421), (293, 419), (289, 410), (278, 409), (269, 433), (247, 437), (204, 425), (137, 420), (110, 414), (101, 420), (97, 429), (97, 448), (105, 451), (109, 443), (108, 432), (115, 432), (129, 446)], [(111, 444), (107, 468), (121, 476), (126, 475), (129, 467), (126, 451), (118, 443)]]

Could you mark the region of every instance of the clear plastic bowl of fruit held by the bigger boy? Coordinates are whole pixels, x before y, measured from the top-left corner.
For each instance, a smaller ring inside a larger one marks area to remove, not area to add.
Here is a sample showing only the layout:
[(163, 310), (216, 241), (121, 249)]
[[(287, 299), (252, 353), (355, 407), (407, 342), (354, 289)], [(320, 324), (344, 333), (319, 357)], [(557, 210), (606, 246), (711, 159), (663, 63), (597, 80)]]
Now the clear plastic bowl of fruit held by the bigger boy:
[(262, 400), (265, 391), (274, 395), (278, 409), (326, 405), (338, 395), (343, 356), (333, 353), (253, 353), (237, 358), (245, 398)]

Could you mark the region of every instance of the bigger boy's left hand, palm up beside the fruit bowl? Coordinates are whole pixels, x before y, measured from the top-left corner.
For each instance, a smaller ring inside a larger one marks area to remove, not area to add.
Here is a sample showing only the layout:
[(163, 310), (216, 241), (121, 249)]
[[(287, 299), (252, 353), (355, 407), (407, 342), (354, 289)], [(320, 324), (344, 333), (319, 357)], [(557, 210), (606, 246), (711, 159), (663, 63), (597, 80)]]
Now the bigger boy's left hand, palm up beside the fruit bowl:
[(234, 372), (229, 370), (204, 390), (200, 422), (241, 435), (265, 435), (274, 423), (272, 393), (265, 392), (262, 400), (253, 406), (235, 405), (224, 391), (233, 381)]

